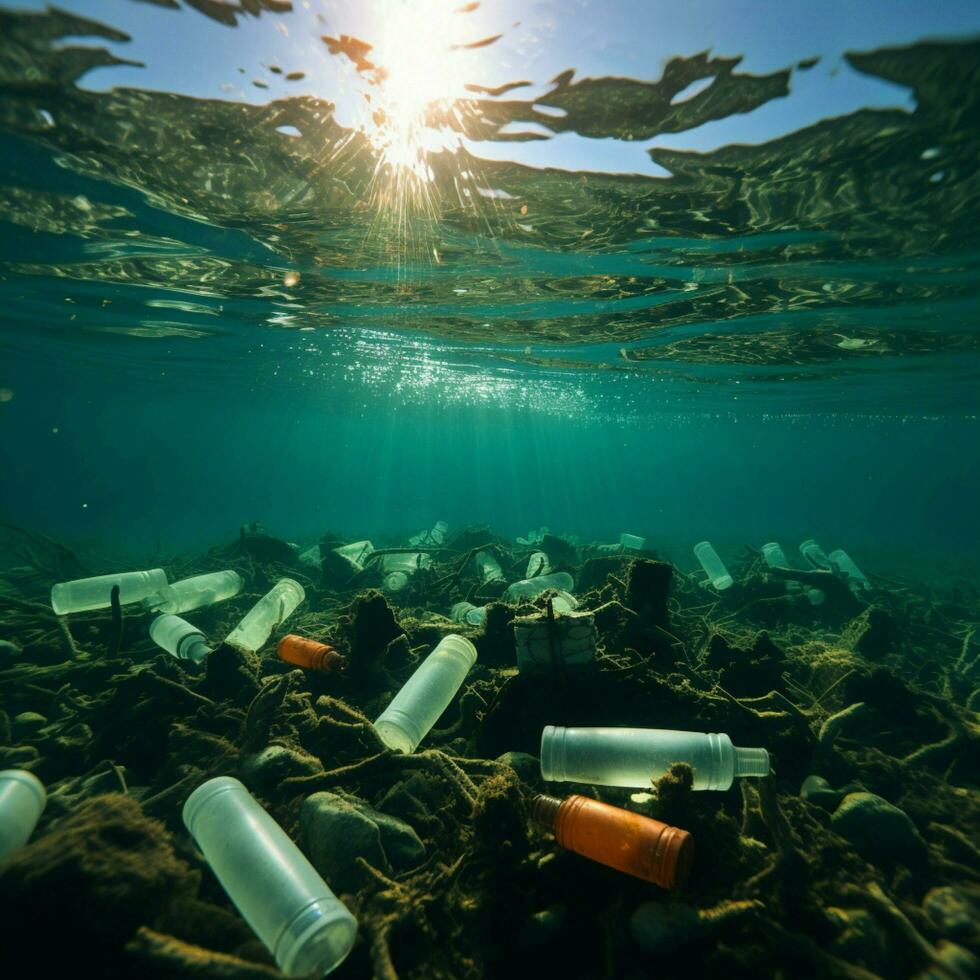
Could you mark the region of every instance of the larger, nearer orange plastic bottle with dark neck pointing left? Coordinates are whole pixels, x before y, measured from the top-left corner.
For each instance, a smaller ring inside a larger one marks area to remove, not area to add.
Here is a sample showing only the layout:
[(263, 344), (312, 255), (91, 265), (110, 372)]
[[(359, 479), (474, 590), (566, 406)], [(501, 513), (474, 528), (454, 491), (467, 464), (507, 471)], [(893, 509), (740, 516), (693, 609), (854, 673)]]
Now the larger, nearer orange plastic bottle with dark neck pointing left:
[(659, 820), (578, 795), (536, 796), (531, 816), (562, 847), (661, 888), (682, 885), (691, 873), (694, 838)]

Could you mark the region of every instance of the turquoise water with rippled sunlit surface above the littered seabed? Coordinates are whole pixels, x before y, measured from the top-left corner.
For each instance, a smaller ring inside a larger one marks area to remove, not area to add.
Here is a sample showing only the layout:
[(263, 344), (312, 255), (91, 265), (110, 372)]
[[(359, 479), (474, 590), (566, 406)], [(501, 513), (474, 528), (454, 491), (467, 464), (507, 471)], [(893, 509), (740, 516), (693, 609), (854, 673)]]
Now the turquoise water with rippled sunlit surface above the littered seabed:
[(561, 17), (519, 63), (528, 11), (413, 124), (452, 137), (421, 181), (317, 36), (367, 14), (144, 6), (0, 13), (5, 520), (119, 557), (440, 519), (974, 555), (968, 6), (618, 71)]

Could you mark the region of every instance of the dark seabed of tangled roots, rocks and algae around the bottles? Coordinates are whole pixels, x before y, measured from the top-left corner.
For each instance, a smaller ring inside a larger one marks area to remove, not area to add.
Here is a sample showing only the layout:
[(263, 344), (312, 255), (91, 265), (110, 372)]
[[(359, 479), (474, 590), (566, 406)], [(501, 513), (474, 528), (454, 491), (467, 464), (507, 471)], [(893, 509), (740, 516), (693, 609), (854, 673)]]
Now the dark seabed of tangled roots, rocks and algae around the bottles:
[[(244, 579), (183, 614), (214, 646), (198, 666), (154, 645), (138, 604), (56, 616), (54, 583), (123, 569), (4, 527), (0, 769), (48, 791), (30, 843), (0, 865), (5, 966), (280, 976), (181, 820), (198, 785), (232, 775), (357, 917), (339, 978), (978, 975), (975, 580), (865, 569), (871, 587), (852, 591), (835, 571), (774, 571), (745, 548), (718, 592), (645, 548), (515, 543), (482, 526), (439, 537), (376, 540), (352, 564), (333, 549), (353, 539), (327, 535), (318, 564), (250, 525), (206, 554), (135, 566)], [(405, 552), (431, 564), (386, 579), (385, 556)], [(480, 552), (501, 579), (480, 574)], [(517, 669), (515, 617), (557, 629), (565, 615), (552, 592), (501, 601), (539, 552), (593, 614), (594, 660)], [(269, 642), (255, 655), (221, 644), (284, 576), (306, 598)], [(460, 602), (482, 624), (454, 622)], [(333, 646), (346, 670), (283, 662), (286, 633)], [(450, 633), (475, 644), (476, 665), (418, 750), (395, 753), (371, 722)], [(683, 765), (645, 792), (545, 784), (546, 725), (724, 732), (768, 749), (773, 771), (724, 792), (693, 792)], [(560, 848), (529, 819), (545, 792), (690, 831), (689, 880), (668, 892)]]

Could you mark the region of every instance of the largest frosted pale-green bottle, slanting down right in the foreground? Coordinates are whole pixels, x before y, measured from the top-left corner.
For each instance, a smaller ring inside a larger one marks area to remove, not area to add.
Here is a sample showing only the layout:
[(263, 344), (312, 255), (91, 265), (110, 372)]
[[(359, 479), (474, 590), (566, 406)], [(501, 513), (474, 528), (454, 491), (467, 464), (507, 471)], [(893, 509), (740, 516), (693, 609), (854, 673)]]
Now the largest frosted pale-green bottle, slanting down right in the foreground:
[(242, 783), (230, 776), (209, 779), (191, 793), (183, 817), (283, 973), (323, 976), (344, 961), (357, 920)]

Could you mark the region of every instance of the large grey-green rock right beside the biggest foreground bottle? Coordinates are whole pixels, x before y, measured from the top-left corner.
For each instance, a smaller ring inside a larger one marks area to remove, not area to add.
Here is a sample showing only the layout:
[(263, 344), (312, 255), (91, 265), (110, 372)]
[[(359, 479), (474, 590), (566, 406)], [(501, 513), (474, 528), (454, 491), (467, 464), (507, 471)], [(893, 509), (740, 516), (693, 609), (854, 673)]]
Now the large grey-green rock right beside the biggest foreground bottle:
[(303, 801), (300, 839), (313, 866), (337, 891), (360, 886), (359, 857), (385, 874), (425, 857), (425, 845), (407, 823), (337, 793), (314, 793)]

